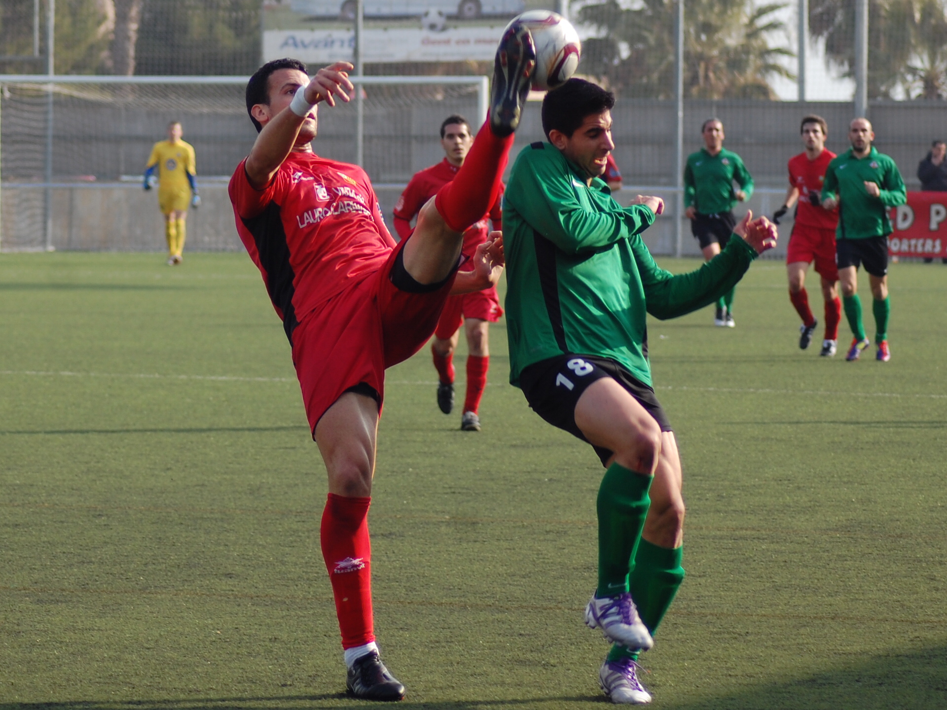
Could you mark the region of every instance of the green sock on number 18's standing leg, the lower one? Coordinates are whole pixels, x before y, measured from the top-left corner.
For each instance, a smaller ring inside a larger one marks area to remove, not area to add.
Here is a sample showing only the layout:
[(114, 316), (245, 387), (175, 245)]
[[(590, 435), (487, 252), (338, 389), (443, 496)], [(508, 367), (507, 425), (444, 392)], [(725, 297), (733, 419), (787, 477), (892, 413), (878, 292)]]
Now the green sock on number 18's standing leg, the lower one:
[[(683, 552), (683, 547), (671, 549), (659, 547), (647, 540), (638, 542), (630, 587), (638, 614), (652, 636), (684, 581), (684, 568), (681, 567)], [(614, 644), (608, 653), (608, 660), (631, 658), (636, 661), (639, 652), (637, 648), (633, 650)]]

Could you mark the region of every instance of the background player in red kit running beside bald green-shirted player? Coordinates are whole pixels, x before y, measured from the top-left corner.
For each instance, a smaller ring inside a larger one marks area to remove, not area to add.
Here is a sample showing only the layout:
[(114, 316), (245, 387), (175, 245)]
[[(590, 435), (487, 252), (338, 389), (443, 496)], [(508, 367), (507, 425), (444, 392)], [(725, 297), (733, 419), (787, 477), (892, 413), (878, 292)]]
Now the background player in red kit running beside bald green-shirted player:
[(799, 327), (799, 347), (809, 347), (818, 321), (809, 308), (809, 294), (806, 293), (806, 271), (815, 262), (815, 272), (822, 277), (822, 297), (825, 300), (826, 331), (819, 355), (831, 358), (838, 345), (838, 324), (842, 319), (842, 301), (835, 287), (838, 281), (838, 268), (835, 266), (835, 226), (838, 223), (838, 209), (824, 209), (819, 204), (822, 182), (826, 169), (835, 153), (825, 147), (829, 127), (825, 118), (807, 115), (802, 119), (801, 152), (789, 161), (789, 191), (786, 203), (777, 209), (774, 217), (779, 218), (798, 201), (795, 210), (793, 233), (786, 251), (786, 272), (789, 276), (789, 300), (802, 318)]

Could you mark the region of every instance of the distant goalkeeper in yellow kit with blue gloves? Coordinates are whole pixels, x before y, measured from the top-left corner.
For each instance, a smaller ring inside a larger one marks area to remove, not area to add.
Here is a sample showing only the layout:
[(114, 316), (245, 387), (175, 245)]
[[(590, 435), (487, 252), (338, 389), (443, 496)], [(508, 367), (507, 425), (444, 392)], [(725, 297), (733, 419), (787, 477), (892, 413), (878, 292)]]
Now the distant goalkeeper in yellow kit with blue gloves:
[(188, 219), (188, 203), (201, 204), (194, 176), (194, 147), (181, 140), (184, 134), (180, 121), (168, 124), (168, 140), (154, 144), (145, 166), (145, 189), (158, 184), (158, 206), (165, 216), (165, 238), (168, 240), (168, 265), (181, 263)]

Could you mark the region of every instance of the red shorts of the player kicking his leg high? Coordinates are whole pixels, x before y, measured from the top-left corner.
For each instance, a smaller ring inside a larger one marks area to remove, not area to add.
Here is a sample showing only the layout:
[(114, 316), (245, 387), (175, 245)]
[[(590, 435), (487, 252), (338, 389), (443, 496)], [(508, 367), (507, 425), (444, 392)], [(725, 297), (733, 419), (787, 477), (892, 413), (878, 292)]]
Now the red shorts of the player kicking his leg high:
[(377, 272), (332, 296), (293, 331), (293, 364), (313, 438), (326, 410), (356, 385), (378, 393), (381, 411), (384, 369), (418, 352), (438, 325), (454, 276), (437, 291), (399, 289), (389, 276), (406, 242)]

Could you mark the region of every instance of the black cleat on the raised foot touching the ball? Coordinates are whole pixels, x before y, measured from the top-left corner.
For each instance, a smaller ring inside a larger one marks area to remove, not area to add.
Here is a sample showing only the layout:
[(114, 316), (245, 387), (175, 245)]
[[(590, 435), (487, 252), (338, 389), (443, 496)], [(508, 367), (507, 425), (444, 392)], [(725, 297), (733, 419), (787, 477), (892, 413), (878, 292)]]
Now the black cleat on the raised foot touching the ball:
[(536, 44), (529, 29), (513, 21), (503, 33), (493, 61), (490, 128), (503, 138), (520, 125), (529, 86), (536, 73)]

